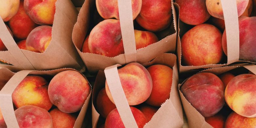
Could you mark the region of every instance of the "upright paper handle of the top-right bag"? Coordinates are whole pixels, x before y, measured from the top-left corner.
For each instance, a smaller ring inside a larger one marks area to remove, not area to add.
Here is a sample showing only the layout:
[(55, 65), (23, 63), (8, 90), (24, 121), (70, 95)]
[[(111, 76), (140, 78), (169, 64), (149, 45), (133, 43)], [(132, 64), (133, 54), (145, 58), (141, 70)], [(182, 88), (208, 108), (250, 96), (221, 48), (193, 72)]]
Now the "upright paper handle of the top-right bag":
[(239, 60), (239, 24), (236, 0), (221, 0), (227, 37), (227, 64)]

